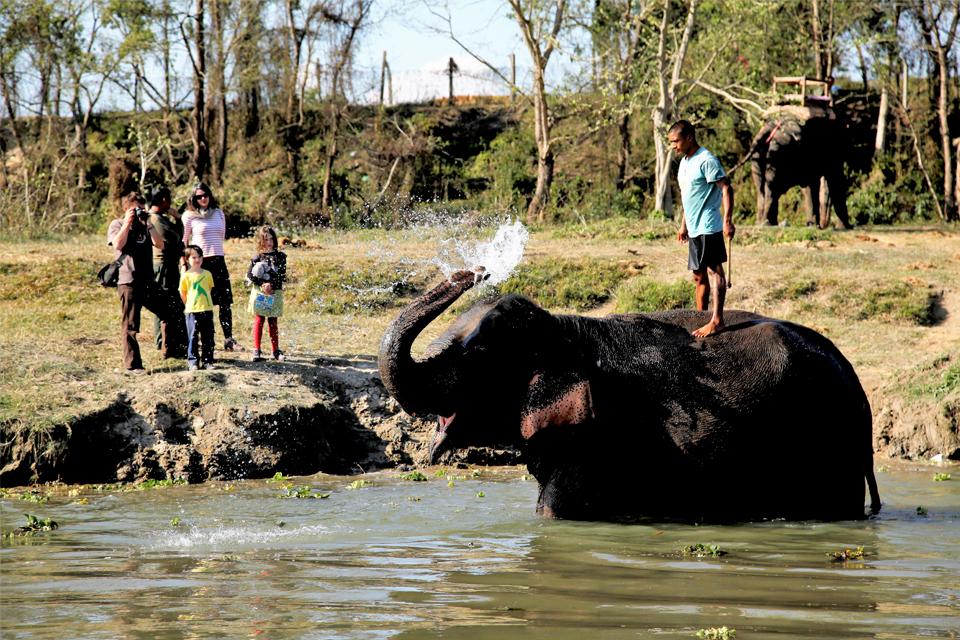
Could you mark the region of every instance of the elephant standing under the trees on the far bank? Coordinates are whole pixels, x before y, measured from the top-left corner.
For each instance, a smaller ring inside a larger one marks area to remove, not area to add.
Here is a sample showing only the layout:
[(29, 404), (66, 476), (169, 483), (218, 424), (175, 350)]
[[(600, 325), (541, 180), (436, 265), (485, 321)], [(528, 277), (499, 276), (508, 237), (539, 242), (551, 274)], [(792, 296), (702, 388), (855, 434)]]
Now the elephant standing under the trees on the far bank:
[(748, 154), (757, 190), (757, 223), (776, 225), (780, 197), (799, 186), (808, 225), (826, 229), (832, 204), (841, 224), (850, 229), (844, 175), (847, 146), (843, 122), (832, 109), (781, 106), (771, 110)]

